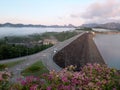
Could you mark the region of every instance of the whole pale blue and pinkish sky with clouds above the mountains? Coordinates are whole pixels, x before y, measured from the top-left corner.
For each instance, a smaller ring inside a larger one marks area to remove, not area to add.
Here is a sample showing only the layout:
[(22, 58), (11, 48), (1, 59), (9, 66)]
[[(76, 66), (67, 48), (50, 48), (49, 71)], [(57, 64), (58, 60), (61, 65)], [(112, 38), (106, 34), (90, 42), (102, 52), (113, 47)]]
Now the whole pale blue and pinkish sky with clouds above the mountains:
[(120, 0), (0, 0), (0, 23), (79, 26), (120, 22)]

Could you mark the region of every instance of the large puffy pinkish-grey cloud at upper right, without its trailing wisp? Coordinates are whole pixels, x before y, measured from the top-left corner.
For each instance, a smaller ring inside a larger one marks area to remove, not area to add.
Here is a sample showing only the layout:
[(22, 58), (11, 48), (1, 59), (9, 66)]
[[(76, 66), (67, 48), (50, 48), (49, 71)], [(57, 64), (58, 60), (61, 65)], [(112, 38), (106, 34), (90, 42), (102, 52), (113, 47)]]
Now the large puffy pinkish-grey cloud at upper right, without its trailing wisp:
[(88, 7), (83, 18), (111, 18), (120, 16), (120, 2), (117, 0), (106, 0), (103, 3), (94, 3)]

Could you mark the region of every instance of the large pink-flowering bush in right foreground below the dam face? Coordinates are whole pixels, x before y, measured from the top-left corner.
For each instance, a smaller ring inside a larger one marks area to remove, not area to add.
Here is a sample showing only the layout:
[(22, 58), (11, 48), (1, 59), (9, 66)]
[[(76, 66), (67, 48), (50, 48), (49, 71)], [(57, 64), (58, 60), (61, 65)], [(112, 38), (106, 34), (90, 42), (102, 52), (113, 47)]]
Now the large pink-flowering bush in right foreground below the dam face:
[(115, 69), (106, 65), (87, 64), (80, 72), (71, 70), (51, 71), (46, 75), (48, 90), (120, 90), (120, 77)]

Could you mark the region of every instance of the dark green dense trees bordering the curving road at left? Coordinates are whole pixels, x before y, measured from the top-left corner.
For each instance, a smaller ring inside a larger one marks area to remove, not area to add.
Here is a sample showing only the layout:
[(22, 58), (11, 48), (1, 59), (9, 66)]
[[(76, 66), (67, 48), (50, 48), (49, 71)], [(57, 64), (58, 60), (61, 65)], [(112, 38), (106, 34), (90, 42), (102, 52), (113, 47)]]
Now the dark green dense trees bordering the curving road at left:
[(9, 59), (9, 58), (30, 55), (30, 54), (42, 51), (44, 49), (47, 49), (51, 46), (52, 44), (34, 46), (34, 47), (29, 48), (23, 45), (2, 44), (0, 45), (0, 59)]

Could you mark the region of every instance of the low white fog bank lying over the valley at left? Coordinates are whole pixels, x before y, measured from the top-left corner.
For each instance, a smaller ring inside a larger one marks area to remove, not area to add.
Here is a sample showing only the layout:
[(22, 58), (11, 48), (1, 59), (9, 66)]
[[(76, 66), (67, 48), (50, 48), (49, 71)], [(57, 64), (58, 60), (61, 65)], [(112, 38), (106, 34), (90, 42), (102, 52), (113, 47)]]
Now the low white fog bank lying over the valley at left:
[(74, 28), (0, 28), (0, 38), (5, 36), (23, 36), (31, 34), (40, 34), (44, 32), (62, 32), (74, 30)]

